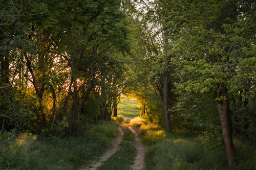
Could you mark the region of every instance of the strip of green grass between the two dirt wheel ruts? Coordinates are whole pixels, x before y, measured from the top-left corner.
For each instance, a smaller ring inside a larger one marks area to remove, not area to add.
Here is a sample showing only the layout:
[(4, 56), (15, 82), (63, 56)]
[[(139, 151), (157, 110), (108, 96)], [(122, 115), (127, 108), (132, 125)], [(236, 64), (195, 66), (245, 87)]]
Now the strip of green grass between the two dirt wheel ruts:
[(106, 160), (97, 170), (130, 170), (136, 156), (136, 148), (129, 142), (121, 142), (120, 149)]

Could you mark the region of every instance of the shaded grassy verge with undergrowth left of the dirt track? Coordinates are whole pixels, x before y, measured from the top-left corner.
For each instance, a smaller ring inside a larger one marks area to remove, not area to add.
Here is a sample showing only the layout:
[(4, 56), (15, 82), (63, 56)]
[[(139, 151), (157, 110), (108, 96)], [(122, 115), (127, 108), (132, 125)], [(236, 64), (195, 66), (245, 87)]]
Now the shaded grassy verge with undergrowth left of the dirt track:
[(37, 139), (33, 134), (0, 143), (0, 169), (76, 169), (102, 154), (117, 123), (91, 126), (80, 138)]

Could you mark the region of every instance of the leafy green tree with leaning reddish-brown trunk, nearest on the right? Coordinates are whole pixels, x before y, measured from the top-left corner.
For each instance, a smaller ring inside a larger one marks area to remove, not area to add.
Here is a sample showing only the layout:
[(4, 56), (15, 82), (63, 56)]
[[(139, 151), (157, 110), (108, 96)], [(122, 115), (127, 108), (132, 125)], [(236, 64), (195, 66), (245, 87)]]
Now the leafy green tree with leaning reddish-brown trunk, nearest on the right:
[[(238, 23), (246, 20), (249, 23), (246, 29), (251, 30), (250, 23), (254, 20), (253, 3), (158, 1), (158, 4), (163, 16), (164, 28), (171, 42), (170, 54), (177, 56), (175, 75), (179, 77), (179, 81), (175, 82), (176, 91), (179, 95), (182, 93), (191, 95), (193, 92), (206, 95), (213, 91), (228, 164), (232, 166), (236, 154), (232, 143), (229, 96), (230, 90), (236, 85), (231, 82), (240, 69), (244, 70), (240, 67), (239, 61), (245, 58), (253, 59), (249, 52), (253, 51), (253, 45), (248, 46), (244, 42), (246, 39), (248, 43), (252, 43), (253, 33), (245, 37), (240, 32), (245, 28), (238, 26)], [(237, 33), (241, 38), (243, 37), (243, 40), (236, 39), (233, 33), (230, 34), (230, 29), (240, 30)], [(247, 51), (249, 53), (238, 54), (237, 50), (243, 48), (250, 49)], [(249, 76), (248, 79), (253, 77)]]

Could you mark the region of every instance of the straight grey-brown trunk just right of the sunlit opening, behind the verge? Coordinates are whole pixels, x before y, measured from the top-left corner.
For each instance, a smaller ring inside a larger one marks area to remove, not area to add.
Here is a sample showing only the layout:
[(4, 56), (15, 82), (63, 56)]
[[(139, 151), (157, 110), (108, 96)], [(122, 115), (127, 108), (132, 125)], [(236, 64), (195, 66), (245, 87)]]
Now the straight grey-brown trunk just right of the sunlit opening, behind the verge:
[(168, 77), (165, 76), (163, 80), (163, 110), (164, 110), (164, 122), (166, 131), (172, 131), (170, 126), (170, 118), (168, 111)]

